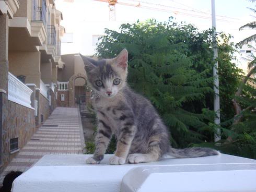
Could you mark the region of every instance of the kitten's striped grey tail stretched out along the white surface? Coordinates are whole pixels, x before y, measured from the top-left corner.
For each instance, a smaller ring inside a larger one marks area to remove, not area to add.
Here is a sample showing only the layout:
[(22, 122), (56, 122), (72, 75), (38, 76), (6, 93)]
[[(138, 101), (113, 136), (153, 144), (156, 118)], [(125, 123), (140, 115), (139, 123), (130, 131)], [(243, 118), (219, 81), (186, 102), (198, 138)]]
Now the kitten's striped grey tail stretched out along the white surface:
[(174, 149), (170, 147), (167, 154), (175, 158), (197, 158), (211, 155), (219, 155), (220, 152), (211, 148), (202, 147), (191, 147), (184, 149)]

